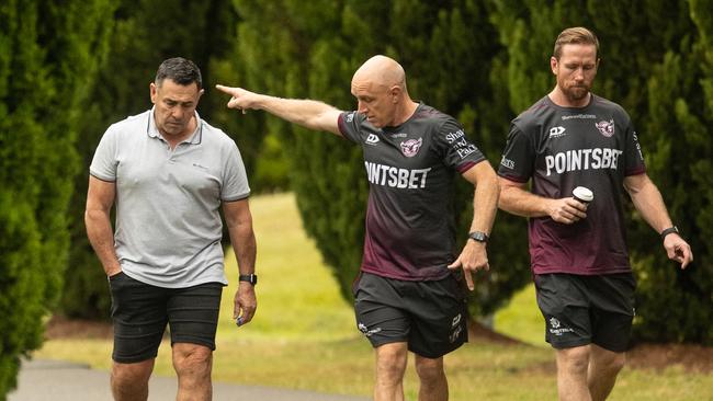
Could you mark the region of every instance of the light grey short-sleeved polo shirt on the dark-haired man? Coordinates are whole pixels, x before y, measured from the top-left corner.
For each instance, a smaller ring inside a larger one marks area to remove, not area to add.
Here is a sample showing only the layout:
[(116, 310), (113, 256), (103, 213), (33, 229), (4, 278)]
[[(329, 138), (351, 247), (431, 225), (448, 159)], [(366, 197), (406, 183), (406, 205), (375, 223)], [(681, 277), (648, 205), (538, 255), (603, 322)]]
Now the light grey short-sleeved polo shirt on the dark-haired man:
[(227, 285), (220, 238), (222, 202), (250, 195), (235, 141), (200, 118), (173, 150), (154, 110), (113, 124), (89, 169), (116, 183), (114, 241), (124, 273), (150, 285)]

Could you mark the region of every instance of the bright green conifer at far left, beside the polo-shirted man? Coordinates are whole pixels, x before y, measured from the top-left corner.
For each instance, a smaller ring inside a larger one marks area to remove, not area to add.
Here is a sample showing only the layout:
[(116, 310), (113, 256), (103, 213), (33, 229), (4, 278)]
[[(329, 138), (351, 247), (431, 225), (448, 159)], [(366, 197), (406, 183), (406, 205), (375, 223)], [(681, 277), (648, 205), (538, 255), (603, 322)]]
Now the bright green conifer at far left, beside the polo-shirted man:
[(70, 247), (75, 148), (113, 7), (105, 0), (0, 5), (0, 399), (42, 343)]

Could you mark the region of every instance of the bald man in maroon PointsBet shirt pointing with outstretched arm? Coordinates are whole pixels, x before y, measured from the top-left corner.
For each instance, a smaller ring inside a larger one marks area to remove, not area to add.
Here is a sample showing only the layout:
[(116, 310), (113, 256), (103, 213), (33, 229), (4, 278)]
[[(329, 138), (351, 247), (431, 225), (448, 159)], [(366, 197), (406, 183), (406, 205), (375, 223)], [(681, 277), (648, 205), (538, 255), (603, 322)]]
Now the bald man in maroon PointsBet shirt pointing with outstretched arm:
[[(372, 57), (354, 73), (355, 112), (217, 88), (233, 96), (228, 107), (264, 110), (361, 145), (370, 193), (354, 309), (358, 328), (376, 353), (374, 399), (404, 399), (411, 351), (421, 385), (419, 399), (446, 400), (443, 355), (467, 341), (465, 285), (473, 289), (472, 275), (488, 268), (486, 244), (499, 191), (483, 153), (453, 117), (414, 102), (404, 69), (385, 56)], [(460, 254), (453, 214), (455, 173), (475, 186), (469, 239)]]

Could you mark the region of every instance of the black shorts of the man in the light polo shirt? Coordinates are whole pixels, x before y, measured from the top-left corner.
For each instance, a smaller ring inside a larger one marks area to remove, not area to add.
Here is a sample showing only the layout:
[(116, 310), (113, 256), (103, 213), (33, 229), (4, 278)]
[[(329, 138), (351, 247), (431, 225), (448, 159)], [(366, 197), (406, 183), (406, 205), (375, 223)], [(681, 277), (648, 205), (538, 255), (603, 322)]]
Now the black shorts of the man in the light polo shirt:
[(169, 323), (171, 345), (193, 343), (215, 350), (223, 284), (162, 288), (118, 273), (109, 279), (114, 321), (112, 358), (131, 364), (155, 358)]

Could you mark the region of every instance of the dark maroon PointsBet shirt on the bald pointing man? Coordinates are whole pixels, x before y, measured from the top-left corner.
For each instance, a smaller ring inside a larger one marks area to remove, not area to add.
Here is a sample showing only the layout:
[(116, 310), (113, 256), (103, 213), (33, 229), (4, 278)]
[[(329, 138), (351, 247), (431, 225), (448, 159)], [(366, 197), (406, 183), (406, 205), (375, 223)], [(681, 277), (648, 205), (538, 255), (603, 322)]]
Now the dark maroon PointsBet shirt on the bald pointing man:
[(397, 127), (339, 116), (360, 144), (370, 183), (361, 270), (404, 280), (448, 276), (455, 260), (454, 177), (485, 160), (451, 116), (425, 104)]

